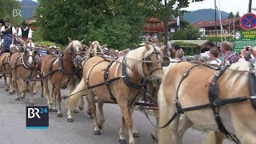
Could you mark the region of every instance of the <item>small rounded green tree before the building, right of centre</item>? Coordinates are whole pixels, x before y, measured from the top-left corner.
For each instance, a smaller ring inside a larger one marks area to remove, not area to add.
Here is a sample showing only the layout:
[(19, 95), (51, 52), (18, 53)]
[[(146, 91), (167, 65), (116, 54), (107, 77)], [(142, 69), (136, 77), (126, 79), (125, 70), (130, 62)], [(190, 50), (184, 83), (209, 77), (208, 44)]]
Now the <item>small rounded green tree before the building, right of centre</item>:
[(176, 40), (195, 40), (200, 37), (200, 32), (197, 27), (186, 26), (183, 29), (174, 32), (174, 39)]

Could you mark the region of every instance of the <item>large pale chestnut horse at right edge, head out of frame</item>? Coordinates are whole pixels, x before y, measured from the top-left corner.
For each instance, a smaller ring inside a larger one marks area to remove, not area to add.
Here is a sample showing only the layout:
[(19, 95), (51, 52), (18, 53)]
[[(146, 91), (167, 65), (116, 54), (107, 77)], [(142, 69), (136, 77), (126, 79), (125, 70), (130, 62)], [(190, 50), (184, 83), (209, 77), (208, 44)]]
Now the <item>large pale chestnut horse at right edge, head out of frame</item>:
[(158, 91), (158, 127), (166, 126), (159, 129), (158, 142), (180, 143), (194, 125), (222, 131), (235, 142), (255, 143), (255, 76), (249, 67), (250, 62), (223, 66), (218, 71), (190, 62), (171, 66)]

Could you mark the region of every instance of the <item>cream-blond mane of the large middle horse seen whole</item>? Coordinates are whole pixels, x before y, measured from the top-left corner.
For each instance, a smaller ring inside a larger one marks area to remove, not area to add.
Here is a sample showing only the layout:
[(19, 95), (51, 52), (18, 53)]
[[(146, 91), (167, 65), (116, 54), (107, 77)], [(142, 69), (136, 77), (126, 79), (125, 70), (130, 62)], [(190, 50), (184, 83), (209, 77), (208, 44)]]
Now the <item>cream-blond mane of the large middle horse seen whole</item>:
[[(150, 45), (148, 45), (150, 46)], [(155, 49), (158, 50), (160, 54), (162, 54), (162, 50), (155, 46)], [(126, 65), (129, 67), (127, 69), (128, 76), (133, 76), (133, 71), (131, 70), (134, 68), (134, 66), (138, 66), (138, 74), (140, 74), (142, 77), (145, 77), (145, 74), (143, 72), (142, 62), (139, 62), (152, 54), (154, 51), (154, 47), (150, 46), (150, 50), (146, 51), (146, 46), (141, 46), (138, 49), (130, 50), (130, 52), (126, 55), (127, 61)]]

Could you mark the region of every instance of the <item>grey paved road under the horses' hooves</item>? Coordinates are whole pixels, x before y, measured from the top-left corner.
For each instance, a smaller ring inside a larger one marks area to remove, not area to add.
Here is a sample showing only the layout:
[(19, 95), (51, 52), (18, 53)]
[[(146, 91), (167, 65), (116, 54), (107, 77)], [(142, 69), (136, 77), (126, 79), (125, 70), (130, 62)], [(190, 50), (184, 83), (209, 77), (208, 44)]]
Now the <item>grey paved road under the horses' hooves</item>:
[[(40, 90), (34, 96), (35, 106), (46, 106), (46, 98), (40, 98)], [(65, 94), (65, 91), (62, 91)], [(72, 123), (66, 122), (66, 101), (62, 100), (63, 118), (56, 113), (50, 113), (49, 130), (26, 130), (26, 106), (29, 104), (28, 95), (24, 100), (14, 101), (14, 95), (8, 95), (4, 90), (3, 80), (0, 80), (0, 144), (114, 144), (118, 143), (118, 130), (121, 126), (121, 113), (118, 106), (106, 104), (106, 122), (102, 135), (93, 134), (93, 121), (82, 111), (74, 115)], [(138, 144), (154, 143), (150, 139), (153, 127), (145, 116), (136, 111), (134, 123), (140, 134), (135, 138)], [(183, 139), (184, 144), (199, 144), (205, 133), (198, 130), (188, 130)], [(126, 134), (126, 138), (128, 138)]]

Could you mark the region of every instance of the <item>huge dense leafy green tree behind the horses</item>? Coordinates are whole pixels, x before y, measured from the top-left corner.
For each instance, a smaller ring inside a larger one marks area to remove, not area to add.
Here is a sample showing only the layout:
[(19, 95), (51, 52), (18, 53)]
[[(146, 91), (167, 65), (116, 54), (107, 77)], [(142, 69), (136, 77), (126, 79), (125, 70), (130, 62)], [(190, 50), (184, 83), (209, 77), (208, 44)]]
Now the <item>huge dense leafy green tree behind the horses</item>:
[(65, 44), (67, 37), (97, 40), (125, 49), (142, 42), (141, 27), (150, 14), (146, 0), (38, 0), (38, 25), (42, 37)]

